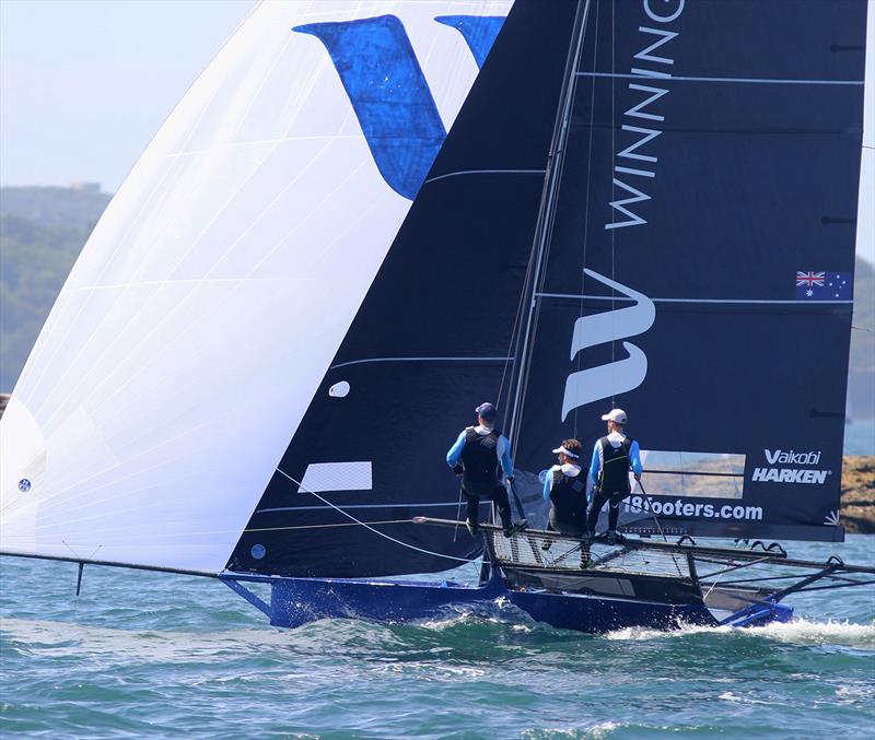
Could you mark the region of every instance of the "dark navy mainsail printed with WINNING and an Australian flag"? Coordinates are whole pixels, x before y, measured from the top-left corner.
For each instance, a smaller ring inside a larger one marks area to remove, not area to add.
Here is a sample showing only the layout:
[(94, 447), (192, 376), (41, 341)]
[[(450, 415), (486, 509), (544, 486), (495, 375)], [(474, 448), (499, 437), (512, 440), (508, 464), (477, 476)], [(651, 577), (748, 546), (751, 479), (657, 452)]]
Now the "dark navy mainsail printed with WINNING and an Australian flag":
[(639, 531), (837, 540), (866, 3), (593, 0), (512, 430), (611, 407)]

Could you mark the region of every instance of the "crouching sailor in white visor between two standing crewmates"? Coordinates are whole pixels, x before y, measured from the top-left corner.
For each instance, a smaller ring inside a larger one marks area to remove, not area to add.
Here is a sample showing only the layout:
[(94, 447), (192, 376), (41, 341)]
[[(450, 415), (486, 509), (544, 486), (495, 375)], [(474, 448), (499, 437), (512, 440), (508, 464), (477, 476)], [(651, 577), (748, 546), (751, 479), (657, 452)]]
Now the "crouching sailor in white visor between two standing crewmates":
[[(547, 531), (568, 537), (581, 537), (586, 528), (586, 477), (581, 474), (580, 458), (583, 446), (576, 439), (564, 439), (553, 450), (559, 456), (544, 479), (544, 498), (550, 502)], [(549, 550), (552, 540), (545, 540), (541, 549)], [(586, 567), (590, 549), (581, 549), (581, 567)]]

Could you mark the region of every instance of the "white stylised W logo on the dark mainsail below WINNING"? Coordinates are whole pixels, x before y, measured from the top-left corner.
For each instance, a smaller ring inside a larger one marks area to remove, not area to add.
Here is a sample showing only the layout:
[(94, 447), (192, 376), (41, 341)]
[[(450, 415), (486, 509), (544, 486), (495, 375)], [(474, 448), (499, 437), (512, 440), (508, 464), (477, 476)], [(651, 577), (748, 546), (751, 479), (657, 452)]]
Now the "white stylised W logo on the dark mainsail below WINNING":
[[(574, 360), (578, 353), (587, 346), (644, 333), (653, 326), (653, 320), (656, 318), (653, 301), (643, 293), (621, 285), (593, 270), (584, 269), (584, 272), (598, 282), (629, 296), (635, 302), (635, 305), (594, 316), (581, 316), (574, 322), (571, 360)], [(598, 367), (587, 367), (568, 376), (565, 397), (562, 401), (562, 421), (565, 420), (569, 411), (578, 407), (632, 390), (644, 381), (648, 374), (646, 355), (631, 342), (623, 342), (622, 345), (629, 353), (627, 359)]]

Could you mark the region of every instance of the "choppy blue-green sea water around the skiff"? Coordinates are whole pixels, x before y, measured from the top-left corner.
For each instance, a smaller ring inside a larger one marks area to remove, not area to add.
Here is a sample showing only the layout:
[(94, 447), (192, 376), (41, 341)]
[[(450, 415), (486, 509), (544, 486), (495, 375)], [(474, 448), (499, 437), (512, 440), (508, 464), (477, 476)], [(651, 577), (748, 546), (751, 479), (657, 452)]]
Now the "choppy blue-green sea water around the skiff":
[[(875, 563), (875, 538), (791, 554)], [(45, 738), (855, 738), (875, 587), (751, 630), (555, 630), (495, 611), (266, 624), (222, 584), (0, 562), (0, 733)]]

